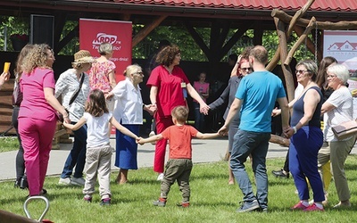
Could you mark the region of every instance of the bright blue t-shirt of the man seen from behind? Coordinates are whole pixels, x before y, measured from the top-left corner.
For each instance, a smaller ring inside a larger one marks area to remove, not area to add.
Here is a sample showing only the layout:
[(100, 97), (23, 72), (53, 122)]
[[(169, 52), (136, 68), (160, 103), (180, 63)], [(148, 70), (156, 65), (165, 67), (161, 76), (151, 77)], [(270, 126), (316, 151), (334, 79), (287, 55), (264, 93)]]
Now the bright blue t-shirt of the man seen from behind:
[(239, 129), (271, 132), (271, 111), (278, 98), (286, 97), (283, 83), (270, 71), (255, 71), (239, 84), (236, 97), (243, 101)]

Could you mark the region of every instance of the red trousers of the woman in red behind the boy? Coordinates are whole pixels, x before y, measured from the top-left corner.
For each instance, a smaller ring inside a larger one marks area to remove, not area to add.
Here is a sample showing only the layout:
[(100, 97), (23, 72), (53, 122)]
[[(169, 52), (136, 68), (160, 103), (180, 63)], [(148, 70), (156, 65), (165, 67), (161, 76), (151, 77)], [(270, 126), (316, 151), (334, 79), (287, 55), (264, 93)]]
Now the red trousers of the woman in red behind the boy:
[[(160, 134), (166, 128), (173, 125), (172, 117), (159, 117), (156, 116), (156, 134)], [(167, 140), (162, 139), (157, 141), (155, 146), (155, 157), (154, 157), (154, 171), (158, 173), (163, 173), (165, 165), (165, 153), (166, 153)]]

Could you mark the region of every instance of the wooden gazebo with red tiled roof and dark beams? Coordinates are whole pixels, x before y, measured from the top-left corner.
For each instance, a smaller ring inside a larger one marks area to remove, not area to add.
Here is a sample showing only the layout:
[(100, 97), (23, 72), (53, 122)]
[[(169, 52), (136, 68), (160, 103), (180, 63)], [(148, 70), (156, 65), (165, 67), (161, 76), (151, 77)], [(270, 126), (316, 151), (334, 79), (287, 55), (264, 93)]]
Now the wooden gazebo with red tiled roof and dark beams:
[[(207, 56), (212, 70), (248, 29), (253, 29), (253, 44), (261, 45), (263, 30), (276, 30), (278, 24), (280, 36), (286, 37), (292, 31), (295, 31), (298, 36), (303, 36), (312, 17), (318, 22), (349, 21), (348, 29), (357, 29), (353, 22), (357, 21), (356, 12), (357, 1), (355, 0), (9, 0), (0, 2), (0, 14), (2, 15), (21, 17), (29, 17), (30, 14), (53, 15), (55, 52), (59, 52), (64, 45), (67, 45), (73, 37), (78, 35), (78, 28), (75, 28), (60, 40), (65, 21), (69, 20), (78, 21), (79, 18), (93, 18), (143, 24), (143, 29), (133, 36), (133, 45), (144, 40), (157, 26), (184, 25), (195, 43)], [(281, 26), (282, 24), (291, 24), (291, 26)], [(323, 29), (321, 24), (318, 29)], [(209, 45), (206, 45), (206, 41), (203, 41), (197, 34), (196, 27), (211, 29)], [(229, 29), (237, 29), (237, 31), (228, 38)], [(347, 28), (342, 27), (341, 29)], [(286, 36), (281, 35), (282, 33), (285, 33)], [(318, 36), (320, 41), (320, 30)], [(284, 37), (281, 38), (283, 42)], [(308, 40), (307, 46), (311, 51), (314, 51), (314, 47), (311, 46), (312, 42), (312, 40)], [(280, 46), (281, 43), (279, 42)], [(319, 57), (321, 50), (321, 48), (318, 49)], [(277, 60), (270, 64), (270, 69), (278, 63), (280, 55), (286, 59), (287, 52), (283, 54), (278, 51), (276, 55), (278, 59), (275, 58)], [(16, 56), (17, 53), (0, 52), (0, 64), (9, 59), (14, 62)], [(61, 64), (61, 58), (57, 58), (56, 63)], [(287, 88), (288, 92), (291, 91), (291, 86), (287, 86)], [(8, 92), (0, 92), (0, 133), (11, 126), (10, 95), (12, 91), (11, 87), (7, 87), (7, 89)]]

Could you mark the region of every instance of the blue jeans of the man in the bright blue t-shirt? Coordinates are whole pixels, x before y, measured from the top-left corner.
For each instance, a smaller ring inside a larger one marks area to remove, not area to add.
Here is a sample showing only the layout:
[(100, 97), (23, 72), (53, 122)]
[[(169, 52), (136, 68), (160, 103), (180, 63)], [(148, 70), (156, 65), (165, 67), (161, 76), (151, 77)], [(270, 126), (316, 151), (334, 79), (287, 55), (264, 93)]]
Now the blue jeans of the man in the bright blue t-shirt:
[[(244, 195), (244, 202), (258, 200), (262, 209), (268, 208), (268, 175), (266, 169), (266, 156), (268, 153), (270, 133), (248, 132), (238, 129), (234, 137), (230, 168)], [(253, 172), (257, 187), (256, 195), (253, 194), (252, 183), (245, 170), (246, 158), (252, 154)]]

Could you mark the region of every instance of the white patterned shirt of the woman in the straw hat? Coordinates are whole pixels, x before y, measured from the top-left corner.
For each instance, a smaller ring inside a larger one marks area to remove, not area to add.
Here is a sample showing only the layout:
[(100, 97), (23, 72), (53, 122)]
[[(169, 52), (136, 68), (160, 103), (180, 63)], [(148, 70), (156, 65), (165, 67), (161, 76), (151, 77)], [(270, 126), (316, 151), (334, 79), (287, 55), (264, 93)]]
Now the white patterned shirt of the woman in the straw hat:
[(55, 85), (55, 97), (62, 95), (62, 105), (70, 111), (70, 120), (77, 122), (83, 116), (84, 112), (84, 105), (87, 101), (87, 97), (89, 95), (89, 77), (86, 73), (83, 73), (84, 81), (83, 85), (80, 88), (79, 95), (77, 95), (74, 102), (69, 105), (71, 101), (72, 95), (77, 91), (79, 88), (80, 78), (77, 78), (77, 74), (75, 73), (74, 69), (69, 69), (60, 75), (58, 78), (56, 85)]

